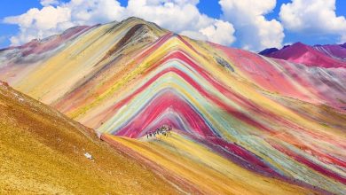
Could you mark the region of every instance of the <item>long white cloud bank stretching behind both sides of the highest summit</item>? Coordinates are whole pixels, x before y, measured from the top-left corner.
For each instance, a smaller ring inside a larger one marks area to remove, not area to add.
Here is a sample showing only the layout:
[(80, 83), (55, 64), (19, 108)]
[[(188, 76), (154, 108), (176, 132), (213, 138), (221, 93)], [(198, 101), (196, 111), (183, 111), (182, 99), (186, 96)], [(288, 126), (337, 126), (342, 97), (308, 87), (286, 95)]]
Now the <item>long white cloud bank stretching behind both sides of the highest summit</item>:
[(129, 0), (127, 7), (116, 0), (71, 0), (67, 3), (42, 0), (41, 4), (41, 10), (34, 8), (4, 19), (6, 23), (20, 26), (20, 34), (11, 38), (12, 44), (57, 34), (67, 27), (119, 21), (130, 16), (153, 21), (196, 39), (226, 45), (234, 41), (232, 24), (202, 14), (197, 8), (199, 0)]

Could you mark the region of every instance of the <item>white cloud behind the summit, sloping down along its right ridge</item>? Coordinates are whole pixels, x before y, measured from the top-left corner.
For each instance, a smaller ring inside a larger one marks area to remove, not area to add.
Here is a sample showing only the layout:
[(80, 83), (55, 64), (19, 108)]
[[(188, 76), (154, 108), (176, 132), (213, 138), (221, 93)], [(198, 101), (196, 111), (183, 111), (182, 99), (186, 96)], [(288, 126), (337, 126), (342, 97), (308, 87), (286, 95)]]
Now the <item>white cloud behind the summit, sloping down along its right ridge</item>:
[(182, 35), (195, 39), (230, 45), (234, 41), (234, 28), (229, 22), (209, 18), (196, 5), (187, 0), (130, 0), (128, 16), (137, 16), (157, 23)]

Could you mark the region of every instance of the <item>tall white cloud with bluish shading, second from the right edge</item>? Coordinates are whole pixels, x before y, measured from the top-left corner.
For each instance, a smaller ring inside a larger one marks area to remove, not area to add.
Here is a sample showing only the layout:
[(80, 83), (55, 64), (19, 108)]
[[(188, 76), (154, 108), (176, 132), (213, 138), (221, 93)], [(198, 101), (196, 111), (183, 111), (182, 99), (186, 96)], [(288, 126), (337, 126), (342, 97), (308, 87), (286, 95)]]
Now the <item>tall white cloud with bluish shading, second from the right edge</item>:
[(236, 29), (240, 46), (260, 51), (269, 47), (281, 47), (283, 27), (278, 20), (266, 20), (264, 15), (272, 12), (276, 0), (220, 0), (223, 19)]

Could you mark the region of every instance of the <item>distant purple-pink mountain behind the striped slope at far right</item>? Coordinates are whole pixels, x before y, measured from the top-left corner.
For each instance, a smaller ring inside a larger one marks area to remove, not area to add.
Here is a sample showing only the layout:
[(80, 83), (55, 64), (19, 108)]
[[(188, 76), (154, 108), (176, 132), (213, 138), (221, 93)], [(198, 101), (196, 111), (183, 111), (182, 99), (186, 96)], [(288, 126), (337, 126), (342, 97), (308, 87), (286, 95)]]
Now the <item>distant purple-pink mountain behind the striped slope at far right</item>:
[(261, 51), (259, 54), (271, 58), (281, 58), (287, 61), (320, 67), (346, 67), (346, 48), (342, 45), (315, 45), (295, 43), (276, 50)]

